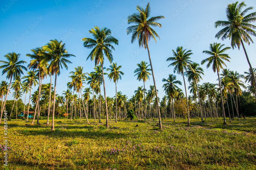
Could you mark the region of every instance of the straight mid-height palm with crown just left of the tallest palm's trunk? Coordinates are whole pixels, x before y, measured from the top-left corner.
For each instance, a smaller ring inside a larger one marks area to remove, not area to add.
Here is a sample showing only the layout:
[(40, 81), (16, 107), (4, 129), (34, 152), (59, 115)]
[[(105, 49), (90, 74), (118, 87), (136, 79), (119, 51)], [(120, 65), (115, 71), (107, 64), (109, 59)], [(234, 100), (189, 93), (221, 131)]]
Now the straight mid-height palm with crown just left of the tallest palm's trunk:
[(149, 65), (147, 65), (147, 62), (141, 61), (141, 63), (137, 64), (138, 68), (135, 69), (134, 73), (136, 73), (134, 76), (137, 76), (137, 80), (141, 81), (143, 80), (144, 83), (144, 122), (146, 123), (146, 96), (145, 96), (145, 82), (149, 79), (149, 76), (151, 75), (150, 72), (151, 69), (148, 68)]

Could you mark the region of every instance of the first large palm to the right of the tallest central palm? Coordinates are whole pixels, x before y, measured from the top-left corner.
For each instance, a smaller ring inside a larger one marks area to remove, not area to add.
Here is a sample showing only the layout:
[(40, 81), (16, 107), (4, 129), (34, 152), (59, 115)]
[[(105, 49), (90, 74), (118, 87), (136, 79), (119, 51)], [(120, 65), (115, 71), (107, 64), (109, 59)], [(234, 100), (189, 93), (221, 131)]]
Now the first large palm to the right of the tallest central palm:
[[(187, 88), (186, 88), (186, 82), (185, 82), (185, 77), (184, 77), (184, 72), (187, 71), (187, 67), (189, 64), (192, 63), (190, 61), (190, 57), (193, 53), (191, 50), (183, 49), (183, 47), (177, 47), (176, 52), (173, 51), (173, 57), (167, 58), (166, 61), (173, 61), (169, 66), (174, 66), (173, 72), (177, 72), (178, 74), (182, 74), (183, 76), (183, 81), (184, 81), (184, 86), (185, 86), (185, 93), (186, 93), (186, 101), (187, 101), (187, 111), (188, 111), (188, 97), (187, 97)], [(169, 67), (168, 66), (168, 67)], [(188, 115), (188, 124), (190, 125), (189, 122), (189, 113), (187, 112)]]

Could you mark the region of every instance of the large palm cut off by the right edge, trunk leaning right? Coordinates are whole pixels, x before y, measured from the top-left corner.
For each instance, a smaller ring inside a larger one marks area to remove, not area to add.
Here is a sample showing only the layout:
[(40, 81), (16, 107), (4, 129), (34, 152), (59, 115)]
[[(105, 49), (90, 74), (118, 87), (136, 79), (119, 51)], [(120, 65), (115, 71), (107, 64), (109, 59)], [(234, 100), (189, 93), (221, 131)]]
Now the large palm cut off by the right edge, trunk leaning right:
[[(250, 70), (252, 75), (254, 75), (252, 65), (249, 61), (249, 57), (247, 55), (246, 49), (244, 47), (243, 42), (250, 45), (250, 42), (253, 43), (252, 36), (256, 36), (256, 33), (253, 29), (256, 29), (255, 25), (252, 25), (251, 23), (256, 21), (256, 12), (253, 12), (251, 14), (246, 13), (253, 9), (253, 7), (246, 8), (242, 11), (242, 8), (245, 7), (246, 4), (243, 2), (239, 3), (238, 1), (236, 3), (228, 4), (226, 8), (226, 15), (228, 21), (216, 21), (215, 27), (225, 27), (222, 30), (220, 30), (215, 37), (220, 39), (222, 41), (229, 38), (231, 39), (231, 46), (232, 48), (238, 47), (240, 49), (240, 46), (242, 44), (244, 53), (246, 55), (247, 62), (250, 66)], [(256, 80), (255, 76), (252, 76), (252, 80), (254, 82), (254, 86), (256, 88)]]

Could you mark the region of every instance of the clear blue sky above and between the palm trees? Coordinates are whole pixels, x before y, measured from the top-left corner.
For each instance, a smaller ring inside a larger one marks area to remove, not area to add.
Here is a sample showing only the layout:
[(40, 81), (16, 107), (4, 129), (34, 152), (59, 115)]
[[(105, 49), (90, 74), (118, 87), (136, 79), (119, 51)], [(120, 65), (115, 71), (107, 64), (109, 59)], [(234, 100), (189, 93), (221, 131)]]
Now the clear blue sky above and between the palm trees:
[[(208, 50), (210, 43), (220, 42), (230, 46), (229, 40), (222, 42), (215, 38), (221, 28), (214, 28), (214, 22), (226, 20), (225, 8), (234, 1), (1, 0), (1, 60), (5, 60), (3, 57), (5, 54), (16, 52), (21, 54), (21, 60), (29, 62), (30, 58), (26, 57), (26, 54), (31, 53), (30, 49), (45, 45), (51, 39), (63, 41), (68, 53), (75, 55), (76, 58), (69, 59), (72, 64), (68, 65), (68, 71), (62, 70), (61, 75), (57, 78), (57, 94), (61, 95), (62, 91), (67, 89), (67, 82), (70, 81), (69, 72), (73, 71), (74, 67), (83, 66), (85, 72), (93, 71), (94, 62), (86, 61), (90, 49), (83, 47), (81, 39), (91, 37), (88, 30), (94, 25), (107, 27), (119, 40), (119, 45), (114, 46), (113, 57), (114, 62), (122, 65), (121, 71), (124, 72), (124, 76), (118, 82), (117, 89), (130, 98), (134, 94), (134, 90), (143, 85), (143, 82), (138, 82), (134, 77), (136, 64), (143, 60), (149, 63), (149, 59), (147, 50), (140, 49), (137, 42), (131, 44), (131, 35), (126, 33), (126, 28), (129, 26), (127, 16), (136, 12), (136, 5), (145, 7), (148, 2), (151, 4), (151, 16), (162, 15), (165, 17), (165, 19), (159, 20), (162, 28), (155, 28), (161, 40), (158, 39), (157, 43), (149, 44), (156, 86), (159, 90), (158, 96), (162, 98), (165, 95), (162, 89), (162, 79), (167, 79), (168, 74), (173, 74), (173, 67), (168, 67), (170, 62), (166, 62), (166, 59), (172, 56), (172, 49), (185, 46), (194, 53), (191, 60), (200, 63), (208, 57), (206, 54), (202, 54), (202, 51)], [(245, 3), (247, 7), (256, 7), (255, 0), (246, 0)], [(253, 9), (250, 12), (255, 11), (256, 9)], [(252, 39), (254, 42), (256, 41), (255, 37)], [(246, 44), (245, 47), (252, 67), (256, 67), (255, 44), (250, 46)], [(231, 60), (226, 64), (230, 70), (238, 71), (240, 74), (248, 71), (249, 65), (242, 49), (229, 50), (228, 54)], [(108, 68), (109, 65), (108, 61), (104, 62), (104, 67)], [(217, 73), (214, 73), (211, 68), (206, 69), (206, 64), (202, 68), (205, 71), (205, 76), (200, 84), (203, 82), (217, 83)], [(1, 81), (6, 80), (6, 75), (0, 75), (0, 77)], [(177, 75), (177, 78), (183, 82), (181, 75)], [(49, 78), (43, 80), (43, 83), (49, 82)], [(107, 77), (105, 77), (105, 83), (106, 95), (113, 97), (115, 84), (108, 81)], [(149, 89), (151, 84), (153, 84), (152, 77), (146, 82), (146, 89)], [(189, 83), (186, 82), (186, 85), (188, 86)], [(184, 85), (180, 88), (185, 91)], [(34, 87), (32, 93), (36, 89), (37, 87)], [(9, 96), (8, 99), (12, 99), (12, 97)], [(24, 101), (24, 96), (22, 99)]]

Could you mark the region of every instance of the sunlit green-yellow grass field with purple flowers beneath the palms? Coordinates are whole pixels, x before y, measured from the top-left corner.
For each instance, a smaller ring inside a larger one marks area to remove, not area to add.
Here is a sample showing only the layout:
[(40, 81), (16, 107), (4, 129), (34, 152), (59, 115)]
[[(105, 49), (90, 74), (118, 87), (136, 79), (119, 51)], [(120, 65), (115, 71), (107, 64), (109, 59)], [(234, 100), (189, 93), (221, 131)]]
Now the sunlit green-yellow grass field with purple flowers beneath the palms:
[(162, 130), (152, 120), (112, 119), (109, 129), (89, 121), (57, 119), (54, 131), (46, 120), (8, 121), (8, 169), (256, 169), (255, 117), (228, 125), (191, 119), (191, 127), (184, 119), (163, 119)]

